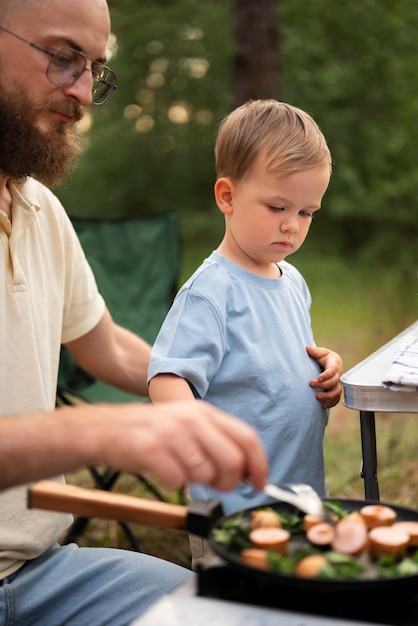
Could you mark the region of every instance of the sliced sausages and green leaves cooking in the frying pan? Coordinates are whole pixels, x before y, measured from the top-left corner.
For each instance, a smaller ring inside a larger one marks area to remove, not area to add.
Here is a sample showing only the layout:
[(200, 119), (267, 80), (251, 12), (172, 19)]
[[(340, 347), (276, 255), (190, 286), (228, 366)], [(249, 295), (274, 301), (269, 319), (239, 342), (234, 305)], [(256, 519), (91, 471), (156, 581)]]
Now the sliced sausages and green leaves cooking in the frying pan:
[(396, 511), (383, 505), (349, 511), (339, 502), (324, 504), (335, 525), (297, 509), (260, 507), (250, 519), (245, 512), (229, 516), (212, 536), (243, 563), (291, 576), (367, 580), (418, 575), (418, 521), (397, 521)]

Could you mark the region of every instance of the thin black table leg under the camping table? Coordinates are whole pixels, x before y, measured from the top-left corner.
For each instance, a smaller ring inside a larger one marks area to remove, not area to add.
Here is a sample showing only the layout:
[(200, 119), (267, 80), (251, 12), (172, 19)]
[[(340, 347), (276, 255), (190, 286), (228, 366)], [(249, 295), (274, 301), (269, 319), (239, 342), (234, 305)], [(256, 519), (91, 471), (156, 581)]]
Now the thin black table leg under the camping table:
[(364, 479), (364, 495), (366, 500), (378, 501), (376, 424), (373, 411), (360, 411), (360, 429), (363, 454), (361, 476)]

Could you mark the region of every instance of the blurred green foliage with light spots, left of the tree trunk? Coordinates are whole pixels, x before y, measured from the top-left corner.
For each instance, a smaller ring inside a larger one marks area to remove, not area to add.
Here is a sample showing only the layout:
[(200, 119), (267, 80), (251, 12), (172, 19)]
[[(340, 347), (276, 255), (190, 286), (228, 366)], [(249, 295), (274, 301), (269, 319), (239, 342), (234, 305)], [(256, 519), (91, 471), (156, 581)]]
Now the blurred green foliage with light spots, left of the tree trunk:
[[(111, 0), (117, 90), (93, 107), (87, 150), (59, 189), (70, 214), (212, 206), (213, 140), (231, 106), (231, 8), (222, 0)], [(113, 52), (113, 54), (112, 54)]]

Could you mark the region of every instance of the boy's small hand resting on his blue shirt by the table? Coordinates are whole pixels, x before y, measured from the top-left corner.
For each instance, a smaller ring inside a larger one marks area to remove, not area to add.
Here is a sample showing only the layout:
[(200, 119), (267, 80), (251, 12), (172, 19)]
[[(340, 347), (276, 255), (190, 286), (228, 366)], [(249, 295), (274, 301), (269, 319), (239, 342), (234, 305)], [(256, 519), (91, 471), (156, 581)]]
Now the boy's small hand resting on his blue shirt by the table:
[(317, 348), (306, 346), (309, 356), (319, 363), (322, 372), (314, 380), (309, 381), (311, 387), (317, 387), (321, 391), (316, 394), (318, 400), (322, 401), (324, 409), (330, 409), (338, 404), (342, 393), (340, 378), (343, 373), (343, 362), (337, 352), (328, 348)]

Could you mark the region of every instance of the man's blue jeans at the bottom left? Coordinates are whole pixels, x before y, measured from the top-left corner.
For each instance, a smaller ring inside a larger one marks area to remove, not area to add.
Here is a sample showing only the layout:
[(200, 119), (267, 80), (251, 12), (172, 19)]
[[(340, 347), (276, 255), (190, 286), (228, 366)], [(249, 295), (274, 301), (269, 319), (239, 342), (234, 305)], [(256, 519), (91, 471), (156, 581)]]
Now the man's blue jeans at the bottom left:
[(191, 576), (138, 552), (55, 544), (0, 581), (0, 626), (127, 626)]

